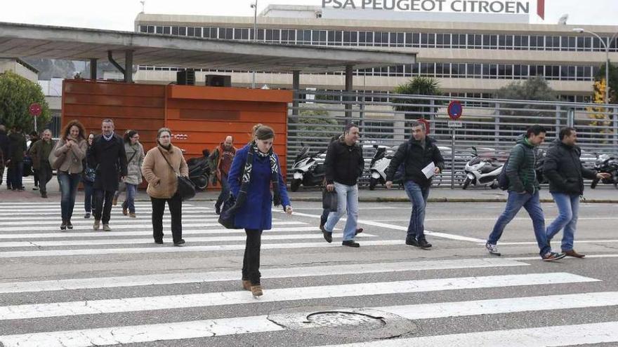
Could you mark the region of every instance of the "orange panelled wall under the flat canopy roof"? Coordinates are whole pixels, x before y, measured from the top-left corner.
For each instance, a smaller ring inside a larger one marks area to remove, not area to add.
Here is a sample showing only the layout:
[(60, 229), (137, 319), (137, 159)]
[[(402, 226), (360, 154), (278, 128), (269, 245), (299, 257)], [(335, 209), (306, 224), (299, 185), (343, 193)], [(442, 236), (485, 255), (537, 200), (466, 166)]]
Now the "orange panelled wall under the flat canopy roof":
[(62, 123), (78, 119), (88, 132), (100, 133), (101, 121), (111, 118), (118, 135), (137, 130), (146, 151), (165, 126), (173, 135), (183, 135), (172, 142), (187, 159), (202, 156), (203, 149), (212, 151), (228, 135), (237, 148), (243, 147), (253, 126), (262, 123), (275, 130), (275, 152), (285, 170), (291, 101), (289, 90), (65, 80)]

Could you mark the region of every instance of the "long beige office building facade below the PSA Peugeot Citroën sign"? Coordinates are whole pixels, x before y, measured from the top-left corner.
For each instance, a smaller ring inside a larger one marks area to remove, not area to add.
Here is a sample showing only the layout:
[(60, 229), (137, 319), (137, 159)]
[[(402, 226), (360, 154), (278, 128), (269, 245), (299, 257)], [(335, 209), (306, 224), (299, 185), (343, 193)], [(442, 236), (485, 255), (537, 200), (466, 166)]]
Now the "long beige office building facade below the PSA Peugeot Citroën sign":
[[(593, 79), (605, 64), (599, 39), (573, 32), (574, 25), (536, 25), (521, 15), (414, 13), (416, 19), (389, 18), (380, 11), (335, 11), (318, 6), (268, 6), (257, 17), (152, 15), (140, 13), (137, 32), (204, 39), (257, 41), (291, 45), (346, 46), (417, 54), (415, 64), (355, 70), (355, 90), (390, 91), (413, 76), (438, 79), (451, 96), (491, 97), (508, 83), (544, 76), (567, 101), (591, 99)], [(390, 16), (395, 17), (395, 16)], [(431, 20), (434, 18), (434, 20)], [(480, 22), (487, 18), (486, 22)], [(470, 21), (471, 20), (471, 21)], [(583, 26), (610, 41), (618, 27)], [(610, 60), (618, 60), (618, 39), (610, 42)], [(136, 81), (169, 83), (178, 69), (140, 66)], [(229, 74), (233, 86), (250, 86), (251, 72), (196, 69), (196, 83), (205, 74)], [(343, 72), (301, 74), (301, 89), (342, 90)], [(256, 73), (256, 85), (291, 88), (291, 74)]]

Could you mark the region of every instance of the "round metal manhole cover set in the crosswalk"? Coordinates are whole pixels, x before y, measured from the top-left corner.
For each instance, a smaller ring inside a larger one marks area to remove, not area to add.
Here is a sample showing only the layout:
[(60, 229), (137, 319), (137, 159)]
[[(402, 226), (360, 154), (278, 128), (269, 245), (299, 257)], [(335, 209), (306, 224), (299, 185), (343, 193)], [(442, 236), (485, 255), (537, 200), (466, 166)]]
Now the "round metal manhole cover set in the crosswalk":
[(307, 322), (320, 327), (341, 327), (342, 329), (381, 329), (386, 325), (382, 317), (346, 311), (311, 313)]

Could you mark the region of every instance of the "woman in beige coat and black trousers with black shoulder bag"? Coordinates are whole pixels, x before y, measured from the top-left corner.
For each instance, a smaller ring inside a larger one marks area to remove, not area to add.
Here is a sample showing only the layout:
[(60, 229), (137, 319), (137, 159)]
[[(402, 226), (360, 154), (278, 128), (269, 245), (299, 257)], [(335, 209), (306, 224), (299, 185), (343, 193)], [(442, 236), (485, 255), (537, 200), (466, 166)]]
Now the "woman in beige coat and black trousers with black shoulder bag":
[(144, 158), (142, 174), (148, 182), (146, 192), (152, 202), (152, 236), (155, 243), (163, 243), (163, 212), (165, 203), (171, 213), (173, 244), (180, 246), (183, 240), (182, 204), (176, 192), (178, 175), (189, 177), (189, 168), (183, 152), (171, 144), (171, 130), (161, 128), (157, 132), (157, 147), (150, 149)]

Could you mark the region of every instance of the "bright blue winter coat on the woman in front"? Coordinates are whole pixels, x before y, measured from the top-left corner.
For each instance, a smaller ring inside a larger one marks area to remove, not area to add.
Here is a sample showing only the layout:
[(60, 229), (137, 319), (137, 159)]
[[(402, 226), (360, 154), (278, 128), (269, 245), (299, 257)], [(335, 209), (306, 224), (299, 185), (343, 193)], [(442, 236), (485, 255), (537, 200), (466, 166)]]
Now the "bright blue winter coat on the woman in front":
[[(228, 174), (228, 183), (230, 191), (234, 196), (238, 196), (240, 191), (240, 178), (244, 170), (246, 162), (246, 154), (251, 149), (246, 145), (236, 152), (232, 168)], [(282, 207), (290, 205), (289, 197), (285, 182), (281, 175), (281, 166), (279, 157), (277, 158), (277, 166), (279, 166), (279, 191), (281, 196)], [(270, 161), (268, 157), (254, 155), (253, 169), (251, 170), (251, 182), (249, 182), (249, 190), (246, 193), (246, 201), (242, 207), (236, 212), (234, 224), (241, 229), (258, 229), (269, 230), (272, 226), (272, 193), (270, 193)]]

